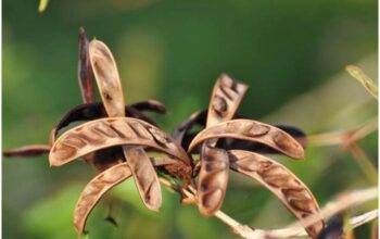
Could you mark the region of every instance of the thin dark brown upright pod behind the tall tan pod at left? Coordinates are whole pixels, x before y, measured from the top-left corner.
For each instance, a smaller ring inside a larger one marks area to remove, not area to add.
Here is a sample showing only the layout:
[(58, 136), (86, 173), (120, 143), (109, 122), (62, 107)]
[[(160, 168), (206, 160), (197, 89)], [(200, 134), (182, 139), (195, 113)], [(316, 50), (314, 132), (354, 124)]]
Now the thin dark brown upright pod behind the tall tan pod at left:
[(88, 38), (83, 27), (79, 29), (78, 80), (83, 101), (91, 103), (93, 97), (93, 73), (88, 54)]

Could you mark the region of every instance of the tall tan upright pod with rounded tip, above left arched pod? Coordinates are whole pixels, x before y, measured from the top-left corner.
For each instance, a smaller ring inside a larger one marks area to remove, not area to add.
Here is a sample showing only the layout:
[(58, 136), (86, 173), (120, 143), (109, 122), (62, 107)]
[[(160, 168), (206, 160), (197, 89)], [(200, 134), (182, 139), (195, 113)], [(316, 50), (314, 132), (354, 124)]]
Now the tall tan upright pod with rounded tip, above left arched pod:
[(105, 110), (110, 117), (124, 113), (124, 96), (116, 62), (105, 43), (91, 40), (89, 55)]

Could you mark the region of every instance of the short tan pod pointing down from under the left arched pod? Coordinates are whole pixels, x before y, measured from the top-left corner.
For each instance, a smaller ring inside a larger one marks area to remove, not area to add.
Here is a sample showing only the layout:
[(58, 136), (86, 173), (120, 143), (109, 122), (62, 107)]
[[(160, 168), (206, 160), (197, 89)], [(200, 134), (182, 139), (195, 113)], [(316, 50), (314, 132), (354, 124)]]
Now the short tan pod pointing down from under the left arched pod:
[[(137, 189), (148, 209), (157, 211), (161, 207), (162, 196), (159, 177), (142, 148), (123, 148), (124, 155), (135, 177)], [(127, 150), (126, 150), (127, 149)]]

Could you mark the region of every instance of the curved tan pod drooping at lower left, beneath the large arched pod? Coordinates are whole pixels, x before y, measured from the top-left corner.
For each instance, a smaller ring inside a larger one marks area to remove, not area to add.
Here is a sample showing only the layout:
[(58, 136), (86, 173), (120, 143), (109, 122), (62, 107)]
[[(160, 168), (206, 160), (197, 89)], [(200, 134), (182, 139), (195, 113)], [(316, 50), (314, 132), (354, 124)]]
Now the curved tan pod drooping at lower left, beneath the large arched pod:
[(127, 163), (122, 163), (102, 172), (86, 186), (74, 211), (74, 226), (78, 234), (84, 231), (87, 217), (100, 198), (130, 176)]

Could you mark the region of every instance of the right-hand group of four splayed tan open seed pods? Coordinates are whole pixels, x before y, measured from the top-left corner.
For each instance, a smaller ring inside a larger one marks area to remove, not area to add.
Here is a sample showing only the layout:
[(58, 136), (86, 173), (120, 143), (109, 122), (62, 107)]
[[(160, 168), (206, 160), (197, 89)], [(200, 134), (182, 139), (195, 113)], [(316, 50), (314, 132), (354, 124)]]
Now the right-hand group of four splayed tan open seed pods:
[[(227, 188), (229, 166), (258, 180), (299, 219), (317, 215), (319, 206), (313, 193), (284, 166), (250, 151), (226, 151), (226, 148), (220, 147), (223, 143), (218, 143), (219, 139), (225, 139), (227, 143), (230, 139), (251, 141), (293, 159), (304, 158), (303, 146), (284, 130), (256, 121), (232, 120), (245, 90), (244, 85), (223, 75), (214, 88), (206, 118), (204, 120), (203, 112), (198, 112), (174, 131), (183, 146), (181, 140), (186, 139), (191, 127), (194, 124), (205, 124), (205, 128), (192, 137), (188, 147), (189, 153), (198, 153), (197, 148), (201, 146), (197, 190), (201, 214), (213, 216), (219, 212)], [(305, 230), (312, 238), (317, 238), (322, 229), (322, 218), (313, 225), (305, 225)]]

